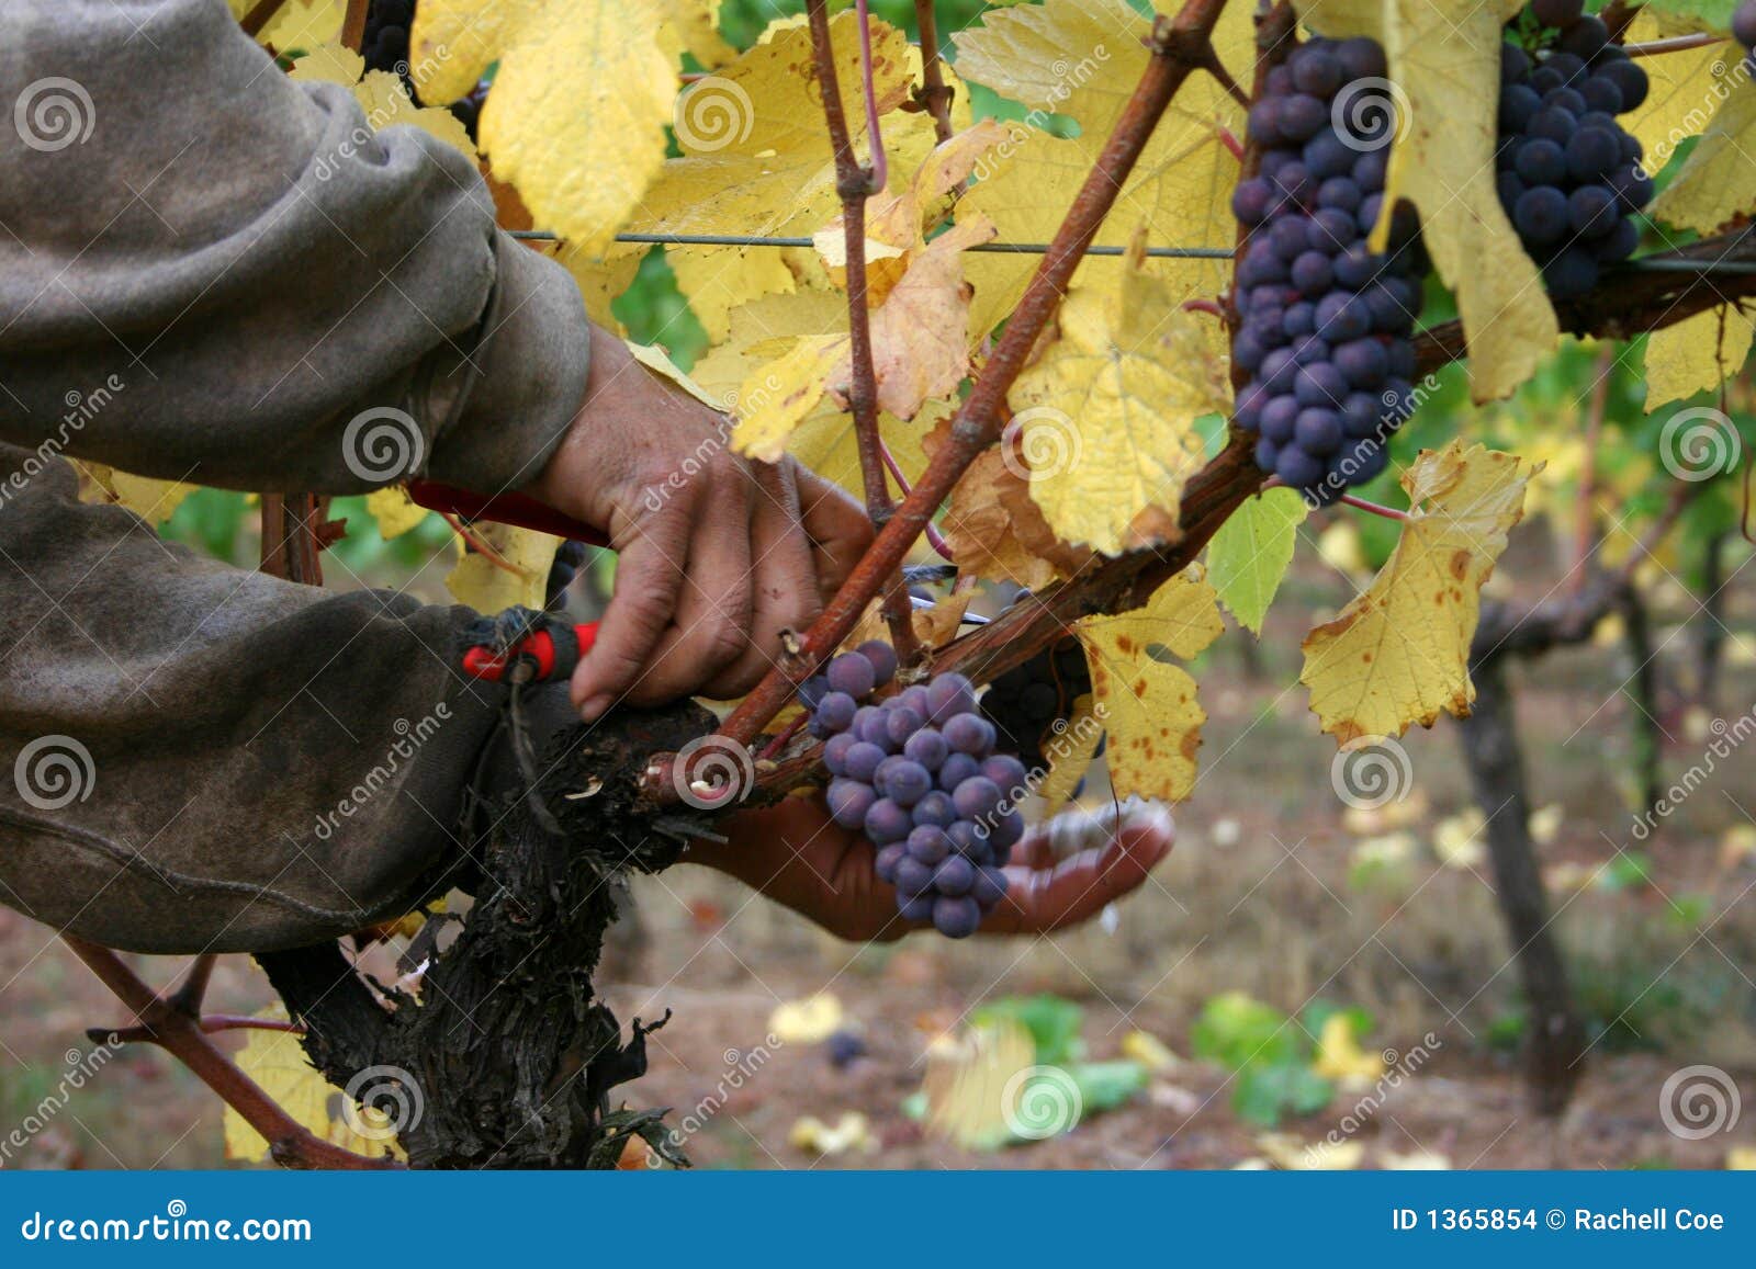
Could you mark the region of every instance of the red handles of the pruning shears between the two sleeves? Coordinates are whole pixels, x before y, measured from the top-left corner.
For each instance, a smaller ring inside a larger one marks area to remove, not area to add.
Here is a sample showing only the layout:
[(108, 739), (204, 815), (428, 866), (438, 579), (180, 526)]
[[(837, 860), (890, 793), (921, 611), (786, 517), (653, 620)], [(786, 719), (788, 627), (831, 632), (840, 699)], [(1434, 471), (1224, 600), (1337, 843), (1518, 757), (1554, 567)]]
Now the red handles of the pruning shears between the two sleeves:
[[(407, 490), (414, 505), (428, 511), (534, 528), (587, 546), (609, 546), (601, 530), (523, 493), (490, 497), (439, 481), (409, 481)], [(490, 683), (544, 683), (571, 678), (579, 658), (597, 642), (597, 621), (572, 623), (529, 607), (506, 609), (497, 616), (481, 618), (464, 632), (464, 672)]]

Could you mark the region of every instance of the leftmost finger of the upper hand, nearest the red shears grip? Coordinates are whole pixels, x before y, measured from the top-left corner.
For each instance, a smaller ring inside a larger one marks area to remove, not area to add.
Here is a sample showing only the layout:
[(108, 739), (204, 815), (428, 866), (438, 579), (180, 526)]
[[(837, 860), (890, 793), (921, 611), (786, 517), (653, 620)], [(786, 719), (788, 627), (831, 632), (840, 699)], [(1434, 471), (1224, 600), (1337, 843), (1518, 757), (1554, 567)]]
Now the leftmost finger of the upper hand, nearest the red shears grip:
[(572, 704), (597, 720), (639, 681), (676, 614), (688, 560), (694, 500), (687, 491), (658, 511), (615, 511), (609, 534), (620, 558), (616, 588), (597, 628), (597, 642), (572, 672)]

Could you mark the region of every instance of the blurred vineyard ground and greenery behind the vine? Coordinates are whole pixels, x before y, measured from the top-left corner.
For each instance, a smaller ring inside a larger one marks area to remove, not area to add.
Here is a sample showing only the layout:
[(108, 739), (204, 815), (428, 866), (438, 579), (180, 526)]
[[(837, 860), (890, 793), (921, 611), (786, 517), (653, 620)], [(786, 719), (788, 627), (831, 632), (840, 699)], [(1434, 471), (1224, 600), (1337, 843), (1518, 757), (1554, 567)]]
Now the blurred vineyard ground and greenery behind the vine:
[[(745, 46), (776, 9), (799, 7), (729, 0), (723, 30)], [(873, 9), (913, 30), (911, 4)], [(941, 32), (983, 9), (939, 4)], [(982, 90), (975, 107), (1015, 111)], [(708, 346), (660, 249), (615, 312), (685, 369)], [(1445, 298), (1428, 314), (1450, 316)], [(1684, 404), (1728, 412), (1747, 470), (1751, 383)], [(1487, 588), (1517, 611), (1570, 593), (1582, 542), (1616, 569), (1666, 514), (1679, 484), (1658, 456), (1670, 414), (1644, 412), (1638, 342), (1616, 358), (1568, 344), (1515, 400), (1487, 409), (1468, 404), (1456, 367), (1440, 374), (1394, 451), (1405, 465), (1465, 434), (1547, 462)], [(1407, 504), (1393, 476), (1368, 495)], [(1519, 1053), (1533, 1023), (1487, 851), (1498, 807), (1472, 790), (1461, 725), (1405, 739), (1407, 783), (1384, 806), (1350, 807), (1331, 783), (1335, 744), (1298, 686), (1299, 641), (1354, 597), (1398, 532), (1349, 509), (1306, 521), (1263, 637), (1231, 628), (1199, 658), (1203, 774), (1155, 883), (1054, 941), (859, 948), (701, 869), (637, 878), (599, 986), (623, 1018), (676, 1016), (650, 1039), (651, 1072), (620, 1092), (674, 1108), (685, 1148), (709, 1167), (1756, 1164), (1756, 744), (1689, 776), (1756, 711), (1747, 513), (1738, 474), (1691, 483), (1675, 527), (1631, 572), (1637, 604), (1507, 665), (1547, 932), (1587, 1041), (1559, 1118), (1536, 1115), (1526, 1088)], [(363, 498), (330, 514), (348, 521), (330, 584), (446, 602), (458, 548), (441, 520), (385, 541)], [(241, 493), (195, 491), (163, 534), (239, 565), (258, 558)], [(611, 583), (611, 560), (588, 565), (576, 611), (592, 614)], [(1689, 792), (1637, 832), (1652, 772), (1661, 790), (1688, 778)], [(1099, 767), (1082, 800), (1105, 799)], [(53, 1095), (86, 1027), (119, 1020), (40, 934), (0, 911), (5, 1123)], [(155, 981), (176, 969), (140, 967)], [(230, 957), (209, 999), (251, 1013), (270, 993)], [(1078, 1122), (1047, 1139), (978, 1123), (961, 1141), (924, 1123), (924, 1090), (955, 1101), (980, 1037), (1024, 1037), (1036, 1062), (1071, 1072)], [(1666, 1079), (1696, 1065), (1740, 1099), (1724, 1130), (1677, 1132), (1665, 1108)], [(128, 1050), (5, 1165), (221, 1158), (218, 1101), (158, 1053)]]

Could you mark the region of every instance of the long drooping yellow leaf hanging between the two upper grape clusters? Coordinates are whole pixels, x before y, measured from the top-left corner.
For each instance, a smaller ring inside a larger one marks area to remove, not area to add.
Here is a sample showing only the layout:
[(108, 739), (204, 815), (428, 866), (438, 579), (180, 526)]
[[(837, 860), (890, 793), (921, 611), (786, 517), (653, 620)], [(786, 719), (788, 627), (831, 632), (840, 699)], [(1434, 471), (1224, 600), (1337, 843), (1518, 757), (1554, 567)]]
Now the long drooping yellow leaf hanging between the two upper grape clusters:
[(1522, 0), (1299, 0), (1322, 35), (1370, 35), (1400, 90), (1398, 139), (1384, 183), (1384, 246), (1398, 198), (1421, 211), (1440, 279), (1457, 295), (1470, 342), (1470, 395), (1496, 400), (1531, 377), (1561, 328), (1536, 265), (1500, 207), (1494, 118), (1500, 28)]

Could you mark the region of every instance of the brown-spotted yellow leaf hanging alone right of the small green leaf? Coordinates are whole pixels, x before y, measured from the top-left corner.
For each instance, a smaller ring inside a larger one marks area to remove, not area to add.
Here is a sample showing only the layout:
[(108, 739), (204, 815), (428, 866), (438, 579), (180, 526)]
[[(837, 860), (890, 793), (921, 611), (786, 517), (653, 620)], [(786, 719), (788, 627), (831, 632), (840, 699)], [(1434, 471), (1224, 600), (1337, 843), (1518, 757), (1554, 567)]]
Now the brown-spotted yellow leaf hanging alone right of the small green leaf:
[(1452, 441), (1403, 472), (1408, 521), (1371, 586), (1305, 637), (1299, 681), (1340, 744), (1463, 718), (1475, 700), (1470, 639), (1482, 583), (1524, 514), (1515, 455)]

